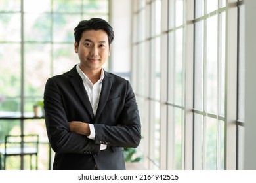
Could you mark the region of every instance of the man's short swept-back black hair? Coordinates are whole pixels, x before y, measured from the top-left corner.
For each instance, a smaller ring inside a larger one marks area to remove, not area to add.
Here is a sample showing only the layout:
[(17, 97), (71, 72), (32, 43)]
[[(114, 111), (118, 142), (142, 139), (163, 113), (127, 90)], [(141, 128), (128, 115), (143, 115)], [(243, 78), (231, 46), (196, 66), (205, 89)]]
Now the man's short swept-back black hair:
[(101, 18), (91, 18), (90, 20), (81, 20), (77, 27), (75, 27), (74, 35), (75, 35), (75, 41), (77, 44), (79, 44), (81, 35), (83, 31), (87, 30), (104, 30), (108, 35), (108, 44), (111, 44), (114, 39), (114, 31), (113, 28), (106, 22), (106, 20), (103, 20)]

